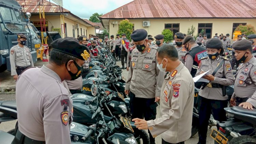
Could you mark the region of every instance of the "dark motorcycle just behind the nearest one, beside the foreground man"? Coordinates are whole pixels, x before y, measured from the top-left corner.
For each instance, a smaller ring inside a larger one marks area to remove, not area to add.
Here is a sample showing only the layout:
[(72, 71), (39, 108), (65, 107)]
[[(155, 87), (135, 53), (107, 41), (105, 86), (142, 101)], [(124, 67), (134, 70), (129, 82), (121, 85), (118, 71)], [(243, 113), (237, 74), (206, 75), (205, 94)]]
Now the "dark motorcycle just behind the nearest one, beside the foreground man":
[[(95, 77), (98, 78), (97, 72)], [(97, 91), (96, 91), (97, 90)], [(95, 94), (97, 92), (97, 95)], [(120, 118), (121, 121), (127, 121), (130, 127), (134, 129), (134, 137), (136, 141), (140, 143), (149, 143), (149, 138), (144, 130), (139, 130), (134, 125), (134, 122), (130, 122), (129, 112), (129, 99), (125, 99), (118, 93), (109, 93), (105, 90), (105, 87), (100, 86), (99, 82), (94, 82), (91, 86), (91, 95), (84, 94), (73, 94), (71, 99), (73, 101), (73, 122), (81, 123), (84, 125), (91, 125), (97, 122), (97, 119), (90, 118), (92, 113), (90, 112), (91, 107), (99, 106), (102, 110), (102, 121), (106, 123), (110, 122), (113, 118)], [(96, 101), (97, 99), (97, 101)], [(124, 120), (125, 119), (125, 120)]]

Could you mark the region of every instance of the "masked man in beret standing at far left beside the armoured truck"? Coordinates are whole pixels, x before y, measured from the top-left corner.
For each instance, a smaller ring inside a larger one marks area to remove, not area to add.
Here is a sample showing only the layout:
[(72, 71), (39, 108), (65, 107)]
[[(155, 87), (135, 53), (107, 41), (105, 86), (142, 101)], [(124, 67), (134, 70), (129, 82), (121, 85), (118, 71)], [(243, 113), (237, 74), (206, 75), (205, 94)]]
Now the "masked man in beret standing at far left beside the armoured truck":
[(24, 34), (17, 36), (18, 44), (10, 49), (11, 75), (14, 80), (18, 79), (23, 70), (34, 66), (30, 49), (25, 46), (27, 37)]

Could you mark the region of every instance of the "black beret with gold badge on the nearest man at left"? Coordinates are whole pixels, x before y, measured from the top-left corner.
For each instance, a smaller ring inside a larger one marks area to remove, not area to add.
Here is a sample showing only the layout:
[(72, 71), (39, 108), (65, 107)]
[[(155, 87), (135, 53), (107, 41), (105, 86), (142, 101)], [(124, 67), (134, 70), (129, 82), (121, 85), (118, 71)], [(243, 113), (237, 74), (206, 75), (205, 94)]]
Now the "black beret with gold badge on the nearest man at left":
[(80, 60), (86, 60), (90, 57), (89, 49), (84, 45), (80, 45), (71, 37), (59, 38), (52, 42), (51, 46), (53, 50), (66, 53)]

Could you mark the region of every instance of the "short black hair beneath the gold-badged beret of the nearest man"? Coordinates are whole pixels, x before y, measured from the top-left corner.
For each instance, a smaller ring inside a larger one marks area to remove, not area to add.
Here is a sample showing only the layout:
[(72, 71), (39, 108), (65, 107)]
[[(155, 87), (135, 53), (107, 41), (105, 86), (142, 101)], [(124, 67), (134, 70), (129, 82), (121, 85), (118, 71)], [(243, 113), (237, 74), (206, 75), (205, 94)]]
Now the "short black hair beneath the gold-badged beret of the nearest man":
[(54, 63), (58, 66), (61, 66), (63, 64), (66, 64), (70, 60), (77, 62), (78, 59), (76, 57), (73, 57), (69, 54), (66, 54), (60, 51), (57, 51), (54, 49), (51, 50), (51, 57), (50, 57), (49, 63)]

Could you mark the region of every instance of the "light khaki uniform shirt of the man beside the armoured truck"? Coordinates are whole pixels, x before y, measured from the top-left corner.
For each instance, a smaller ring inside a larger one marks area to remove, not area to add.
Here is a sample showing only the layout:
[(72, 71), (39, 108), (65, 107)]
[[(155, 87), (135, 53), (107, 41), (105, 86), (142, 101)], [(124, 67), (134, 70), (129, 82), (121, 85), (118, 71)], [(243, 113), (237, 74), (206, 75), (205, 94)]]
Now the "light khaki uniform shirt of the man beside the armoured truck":
[(33, 60), (28, 47), (24, 46), (23, 48), (19, 45), (13, 46), (10, 49), (10, 63), (11, 63), (11, 75), (17, 75), (16, 66), (33, 67)]

